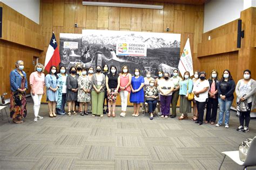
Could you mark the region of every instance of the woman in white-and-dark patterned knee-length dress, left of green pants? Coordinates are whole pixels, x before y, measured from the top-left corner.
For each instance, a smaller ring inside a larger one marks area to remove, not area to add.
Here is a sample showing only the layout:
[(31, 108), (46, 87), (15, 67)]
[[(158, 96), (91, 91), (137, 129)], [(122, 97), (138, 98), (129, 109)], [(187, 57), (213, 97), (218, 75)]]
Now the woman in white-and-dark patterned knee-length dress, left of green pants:
[[(78, 80), (78, 95), (77, 101), (80, 104), (80, 115), (88, 115), (87, 106), (91, 101), (91, 80), (86, 76), (85, 67), (82, 68), (82, 76), (79, 76)], [(84, 105), (84, 111), (83, 111)]]

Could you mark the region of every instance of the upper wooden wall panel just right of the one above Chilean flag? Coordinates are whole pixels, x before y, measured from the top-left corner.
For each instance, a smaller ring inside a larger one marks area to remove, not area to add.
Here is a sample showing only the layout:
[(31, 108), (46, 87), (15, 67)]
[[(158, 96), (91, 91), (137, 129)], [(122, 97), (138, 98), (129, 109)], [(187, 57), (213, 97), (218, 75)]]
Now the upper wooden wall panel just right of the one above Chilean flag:
[(64, 32), (75, 33), (75, 4), (65, 4)]

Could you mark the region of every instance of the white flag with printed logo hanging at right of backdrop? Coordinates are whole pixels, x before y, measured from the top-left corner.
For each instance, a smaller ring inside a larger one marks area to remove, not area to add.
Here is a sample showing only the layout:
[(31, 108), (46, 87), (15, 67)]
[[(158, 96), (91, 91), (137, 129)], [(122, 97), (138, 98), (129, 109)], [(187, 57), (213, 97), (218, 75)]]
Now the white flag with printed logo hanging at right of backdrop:
[(179, 69), (179, 72), (180, 72), (182, 77), (184, 76), (184, 73), (186, 71), (190, 72), (190, 76), (194, 75), (193, 61), (192, 61), (192, 55), (191, 55), (191, 49), (190, 49), (190, 39), (189, 38), (187, 38), (187, 42), (186, 42), (185, 47), (183, 49), (183, 53), (180, 56), (178, 69)]

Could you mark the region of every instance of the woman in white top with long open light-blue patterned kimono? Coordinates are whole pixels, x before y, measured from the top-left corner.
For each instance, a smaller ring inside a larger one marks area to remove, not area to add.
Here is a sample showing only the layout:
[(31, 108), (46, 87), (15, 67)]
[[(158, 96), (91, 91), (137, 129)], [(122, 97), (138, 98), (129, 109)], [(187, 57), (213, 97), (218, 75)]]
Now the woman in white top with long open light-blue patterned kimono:
[(61, 66), (59, 68), (58, 81), (59, 81), (59, 88), (58, 88), (58, 101), (56, 104), (56, 112), (59, 115), (65, 115), (65, 104), (66, 104), (66, 78), (68, 74), (66, 74), (66, 67)]

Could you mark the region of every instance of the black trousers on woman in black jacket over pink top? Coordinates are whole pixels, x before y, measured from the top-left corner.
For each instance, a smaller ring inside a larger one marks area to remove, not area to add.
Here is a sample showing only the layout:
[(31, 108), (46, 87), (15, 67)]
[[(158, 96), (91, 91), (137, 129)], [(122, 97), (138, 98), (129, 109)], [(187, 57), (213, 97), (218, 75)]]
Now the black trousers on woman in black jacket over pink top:
[(218, 98), (208, 98), (206, 104), (206, 116), (205, 120), (210, 122), (215, 122), (217, 117), (217, 110), (218, 110)]

